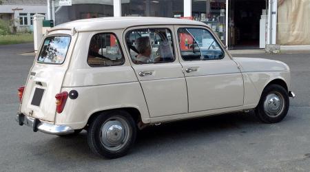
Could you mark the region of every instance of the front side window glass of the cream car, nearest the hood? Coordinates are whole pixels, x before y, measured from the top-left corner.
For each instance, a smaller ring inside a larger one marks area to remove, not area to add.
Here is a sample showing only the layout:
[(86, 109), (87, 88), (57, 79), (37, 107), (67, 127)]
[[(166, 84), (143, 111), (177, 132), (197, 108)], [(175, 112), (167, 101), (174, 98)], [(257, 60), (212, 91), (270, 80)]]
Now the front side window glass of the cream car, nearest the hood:
[(224, 57), (224, 52), (214, 36), (202, 28), (179, 28), (178, 42), (184, 61), (205, 61)]

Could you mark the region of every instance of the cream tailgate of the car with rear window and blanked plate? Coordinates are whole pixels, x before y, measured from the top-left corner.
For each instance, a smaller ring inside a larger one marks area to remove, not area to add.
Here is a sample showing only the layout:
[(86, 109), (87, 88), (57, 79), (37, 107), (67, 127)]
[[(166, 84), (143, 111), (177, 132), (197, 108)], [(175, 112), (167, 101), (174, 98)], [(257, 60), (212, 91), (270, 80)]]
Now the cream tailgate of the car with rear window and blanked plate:
[(75, 38), (76, 36), (70, 34), (55, 33), (43, 40), (25, 86), (21, 104), (23, 114), (54, 121), (55, 95), (61, 91)]

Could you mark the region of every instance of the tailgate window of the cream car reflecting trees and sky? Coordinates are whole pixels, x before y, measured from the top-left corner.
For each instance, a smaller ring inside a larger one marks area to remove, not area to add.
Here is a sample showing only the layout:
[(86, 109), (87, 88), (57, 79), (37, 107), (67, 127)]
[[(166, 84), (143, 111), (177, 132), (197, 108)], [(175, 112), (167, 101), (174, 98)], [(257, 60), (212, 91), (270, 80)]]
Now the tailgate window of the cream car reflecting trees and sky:
[(39, 63), (62, 64), (70, 45), (70, 36), (50, 36), (44, 40)]

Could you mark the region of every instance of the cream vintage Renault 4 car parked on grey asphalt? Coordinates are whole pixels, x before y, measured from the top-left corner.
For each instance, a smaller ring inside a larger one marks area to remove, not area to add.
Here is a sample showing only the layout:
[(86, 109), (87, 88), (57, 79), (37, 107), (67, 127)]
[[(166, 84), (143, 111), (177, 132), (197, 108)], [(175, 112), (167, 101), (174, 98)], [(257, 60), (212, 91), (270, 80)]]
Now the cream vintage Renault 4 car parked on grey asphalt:
[(84, 19), (48, 30), (19, 88), (19, 125), (125, 155), (147, 125), (255, 109), (280, 122), (290, 71), (280, 61), (233, 58), (198, 21), (156, 17)]

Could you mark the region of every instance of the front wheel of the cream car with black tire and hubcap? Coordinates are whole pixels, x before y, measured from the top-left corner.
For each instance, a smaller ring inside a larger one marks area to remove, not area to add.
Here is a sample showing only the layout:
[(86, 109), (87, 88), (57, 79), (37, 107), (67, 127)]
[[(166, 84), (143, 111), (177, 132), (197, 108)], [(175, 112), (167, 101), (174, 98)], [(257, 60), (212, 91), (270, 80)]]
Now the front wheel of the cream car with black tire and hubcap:
[(287, 111), (289, 111), (289, 94), (287, 90), (280, 85), (268, 85), (262, 91), (260, 102), (255, 111), (256, 116), (262, 122), (280, 122), (287, 116)]

